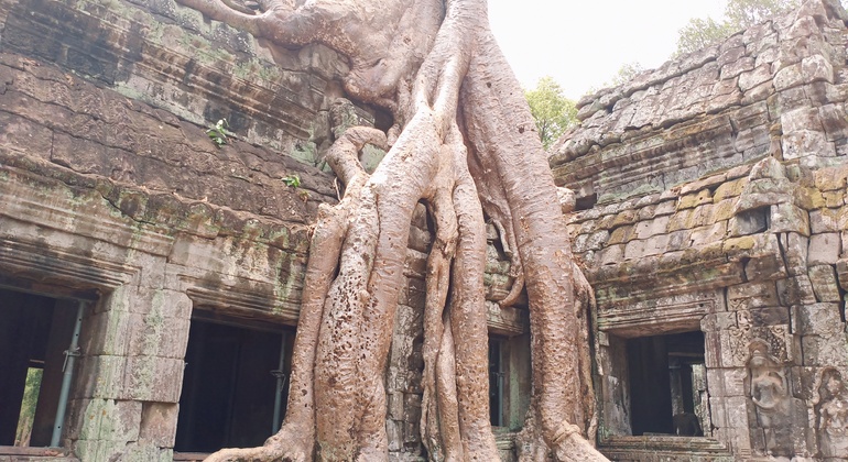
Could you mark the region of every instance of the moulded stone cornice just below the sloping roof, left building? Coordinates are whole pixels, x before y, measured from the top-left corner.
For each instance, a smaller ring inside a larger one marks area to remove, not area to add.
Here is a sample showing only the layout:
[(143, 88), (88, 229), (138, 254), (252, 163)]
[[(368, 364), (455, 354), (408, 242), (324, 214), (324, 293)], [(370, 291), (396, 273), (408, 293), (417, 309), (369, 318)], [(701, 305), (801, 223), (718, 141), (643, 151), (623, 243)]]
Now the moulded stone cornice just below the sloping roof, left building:
[[(59, 213), (62, 221), (79, 228), (80, 235), (156, 255), (167, 255), (173, 235), (180, 232), (205, 239), (250, 235), (257, 242), (298, 254), (306, 254), (309, 246), (303, 223), (81, 175), (2, 147), (0, 194), (7, 198), (0, 216), (64, 230), (66, 227), (56, 222)], [(95, 201), (104, 210), (93, 215), (90, 205)], [(39, 216), (33, 210), (39, 208), (43, 209), (43, 219), (33, 221)], [(122, 239), (116, 240), (116, 233)]]

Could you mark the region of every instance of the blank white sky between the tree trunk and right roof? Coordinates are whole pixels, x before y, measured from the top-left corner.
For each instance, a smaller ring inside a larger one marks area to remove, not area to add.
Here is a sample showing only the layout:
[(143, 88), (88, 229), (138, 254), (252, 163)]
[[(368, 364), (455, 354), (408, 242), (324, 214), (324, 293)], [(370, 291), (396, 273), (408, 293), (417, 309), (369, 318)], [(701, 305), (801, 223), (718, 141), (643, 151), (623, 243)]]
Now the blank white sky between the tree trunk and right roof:
[(720, 19), (724, 0), (489, 0), (498, 43), (525, 88), (550, 75), (565, 96), (600, 88), (622, 64), (662, 65), (691, 18)]

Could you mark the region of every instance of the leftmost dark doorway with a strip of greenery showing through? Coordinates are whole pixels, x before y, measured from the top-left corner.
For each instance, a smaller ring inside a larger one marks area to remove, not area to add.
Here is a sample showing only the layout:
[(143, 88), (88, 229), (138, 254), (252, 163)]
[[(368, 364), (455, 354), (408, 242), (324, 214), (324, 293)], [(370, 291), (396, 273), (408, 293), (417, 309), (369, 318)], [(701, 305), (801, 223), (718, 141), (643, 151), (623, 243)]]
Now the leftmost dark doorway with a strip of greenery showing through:
[(0, 446), (51, 444), (77, 306), (0, 289)]

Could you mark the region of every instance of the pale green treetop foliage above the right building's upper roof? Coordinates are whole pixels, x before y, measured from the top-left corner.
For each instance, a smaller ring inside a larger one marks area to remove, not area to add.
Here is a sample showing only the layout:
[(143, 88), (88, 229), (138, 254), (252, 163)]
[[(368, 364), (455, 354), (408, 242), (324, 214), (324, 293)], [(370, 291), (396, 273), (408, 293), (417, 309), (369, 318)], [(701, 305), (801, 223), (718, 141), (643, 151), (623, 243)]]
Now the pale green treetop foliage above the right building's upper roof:
[(715, 45), (738, 31), (797, 8), (798, 4), (798, 0), (728, 0), (721, 21), (695, 18), (681, 29), (675, 55)]

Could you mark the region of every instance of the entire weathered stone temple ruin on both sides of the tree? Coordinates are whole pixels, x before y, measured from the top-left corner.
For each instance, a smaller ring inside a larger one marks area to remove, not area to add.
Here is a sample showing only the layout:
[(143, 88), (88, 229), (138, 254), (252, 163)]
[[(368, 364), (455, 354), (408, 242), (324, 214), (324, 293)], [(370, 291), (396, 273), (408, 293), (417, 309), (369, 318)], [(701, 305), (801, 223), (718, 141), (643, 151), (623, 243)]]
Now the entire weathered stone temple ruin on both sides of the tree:
[[(584, 98), (552, 150), (610, 459), (848, 459), (846, 21), (812, 0)], [(279, 427), (308, 224), (337, 200), (322, 155), (390, 123), (344, 99), (347, 70), (173, 0), (0, 0), (0, 461), (188, 461)], [(526, 301), (497, 304), (489, 234), (513, 460)], [(422, 455), (430, 239), (422, 210), (387, 372), (398, 461)]]

